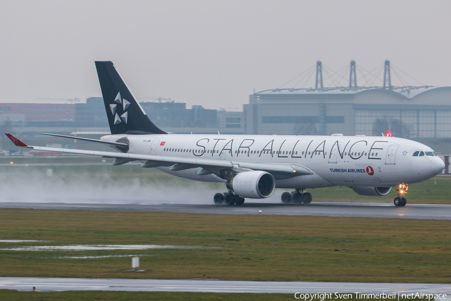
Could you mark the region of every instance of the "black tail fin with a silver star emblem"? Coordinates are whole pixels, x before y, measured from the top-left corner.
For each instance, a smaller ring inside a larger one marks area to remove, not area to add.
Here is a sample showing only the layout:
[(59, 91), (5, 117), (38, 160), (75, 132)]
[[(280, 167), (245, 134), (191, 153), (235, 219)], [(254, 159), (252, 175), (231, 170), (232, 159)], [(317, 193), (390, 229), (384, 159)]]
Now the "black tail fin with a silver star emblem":
[(111, 61), (96, 61), (111, 134), (166, 134), (146, 115)]

